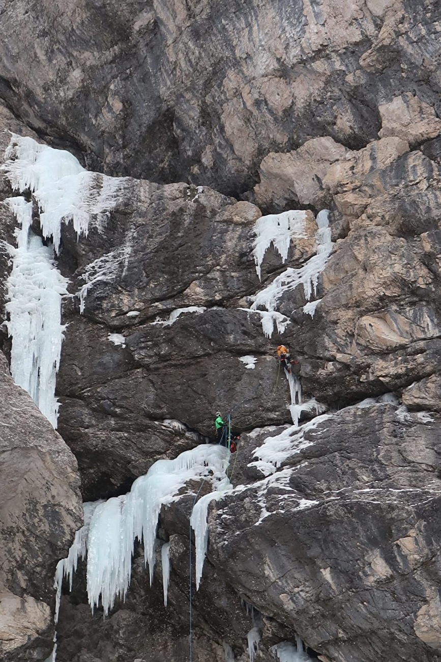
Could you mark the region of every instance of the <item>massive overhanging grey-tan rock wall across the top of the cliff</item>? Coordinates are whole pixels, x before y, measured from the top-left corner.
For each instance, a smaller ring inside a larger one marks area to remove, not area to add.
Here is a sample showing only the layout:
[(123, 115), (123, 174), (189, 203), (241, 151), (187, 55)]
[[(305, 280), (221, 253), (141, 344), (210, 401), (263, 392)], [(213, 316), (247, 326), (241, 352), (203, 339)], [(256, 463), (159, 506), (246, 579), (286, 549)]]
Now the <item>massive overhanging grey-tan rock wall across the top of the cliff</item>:
[(439, 112), (439, 19), (428, 0), (13, 0), (1, 97), (95, 169), (237, 195), (269, 152), (366, 145), (401, 94)]

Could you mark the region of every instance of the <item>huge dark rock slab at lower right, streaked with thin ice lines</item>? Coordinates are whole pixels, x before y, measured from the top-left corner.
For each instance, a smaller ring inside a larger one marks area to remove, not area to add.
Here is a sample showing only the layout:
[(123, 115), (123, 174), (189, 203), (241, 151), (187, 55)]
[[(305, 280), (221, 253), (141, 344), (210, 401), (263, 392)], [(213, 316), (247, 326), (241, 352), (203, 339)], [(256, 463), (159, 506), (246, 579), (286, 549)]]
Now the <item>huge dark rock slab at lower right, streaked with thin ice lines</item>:
[(305, 440), (212, 507), (210, 560), (327, 659), (438, 660), (438, 416), (351, 407)]

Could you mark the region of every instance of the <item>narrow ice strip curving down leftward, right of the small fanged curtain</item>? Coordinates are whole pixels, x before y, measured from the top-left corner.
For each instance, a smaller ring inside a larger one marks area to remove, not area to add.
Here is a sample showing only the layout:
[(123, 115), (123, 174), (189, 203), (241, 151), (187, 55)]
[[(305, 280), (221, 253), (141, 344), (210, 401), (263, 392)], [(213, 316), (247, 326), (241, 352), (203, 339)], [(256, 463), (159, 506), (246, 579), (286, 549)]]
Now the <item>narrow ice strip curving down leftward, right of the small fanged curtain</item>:
[(296, 289), (298, 285), (303, 285), (306, 301), (309, 301), (312, 295), (315, 295), (319, 275), (329, 260), (334, 246), (331, 241), (328, 214), (329, 211), (323, 209), (317, 214), (317, 218), (315, 219), (319, 228), (315, 233), (317, 254), (299, 269), (293, 269), (292, 267), (286, 269), (268, 287), (262, 289), (254, 297), (250, 297), (253, 301), (251, 305), (253, 310), (259, 308), (266, 308), (268, 311), (276, 310), (278, 300), (282, 294), (286, 291)]

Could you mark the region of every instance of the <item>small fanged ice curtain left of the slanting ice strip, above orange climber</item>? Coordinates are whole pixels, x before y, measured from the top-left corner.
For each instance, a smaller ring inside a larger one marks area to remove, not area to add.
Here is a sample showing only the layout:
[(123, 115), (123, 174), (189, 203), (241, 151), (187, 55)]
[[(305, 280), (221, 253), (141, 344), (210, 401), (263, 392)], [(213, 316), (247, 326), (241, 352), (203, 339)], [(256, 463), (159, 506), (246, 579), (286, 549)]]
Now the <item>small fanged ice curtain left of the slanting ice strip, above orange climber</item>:
[(257, 219), (253, 228), (256, 234), (253, 256), (259, 279), (264, 255), (271, 244), (284, 262), (288, 258), (291, 240), (305, 238), (305, 218), (306, 212), (293, 210), (282, 214), (269, 214)]

